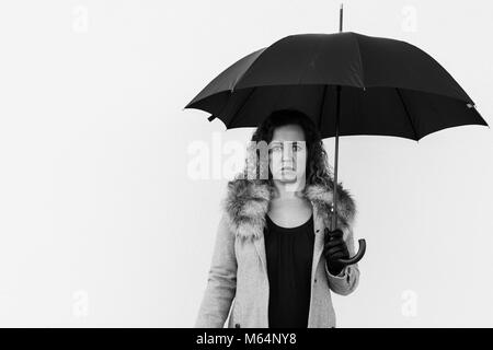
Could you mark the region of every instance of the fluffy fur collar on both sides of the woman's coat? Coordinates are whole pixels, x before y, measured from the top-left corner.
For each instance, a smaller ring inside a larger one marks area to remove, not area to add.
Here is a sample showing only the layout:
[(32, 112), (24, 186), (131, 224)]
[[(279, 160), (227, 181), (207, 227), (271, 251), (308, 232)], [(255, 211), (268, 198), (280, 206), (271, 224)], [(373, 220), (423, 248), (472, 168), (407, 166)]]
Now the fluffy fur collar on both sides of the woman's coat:
[[(227, 196), (222, 207), (228, 224), (238, 237), (259, 238), (265, 226), (265, 215), (268, 211), (274, 185), (263, 179), (236, 178), (228, 183)], [(329, 226), (330, 206), (333, 201), (333, 180), (329, 186), (308, 185), (303, 195), (322, 217)], [(337, 184), (337, 223), (339, 225), (353, 225), (356, 217), (356, 203), (351, 194)]]

